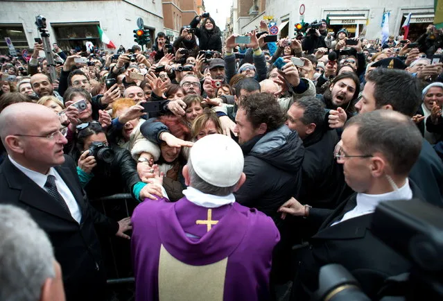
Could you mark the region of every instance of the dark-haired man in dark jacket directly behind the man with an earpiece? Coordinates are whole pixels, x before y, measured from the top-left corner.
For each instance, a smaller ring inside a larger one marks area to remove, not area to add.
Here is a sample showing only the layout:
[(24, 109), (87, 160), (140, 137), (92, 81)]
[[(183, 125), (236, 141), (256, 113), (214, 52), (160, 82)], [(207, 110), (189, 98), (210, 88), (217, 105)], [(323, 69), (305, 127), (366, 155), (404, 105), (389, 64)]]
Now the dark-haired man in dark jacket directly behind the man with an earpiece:
[[(367, 75), (362, 97), (355, 107), (359, 114), (384, 109), (415, 115), (422, 99), (417, 78), (399, 69), (377, 68)], [(426, 139), (410, 171), (410, 178), (424, 195), (424, 200), (443, 207), (443, 163)], [(399, 148), (399, 152), (403, 152)]]

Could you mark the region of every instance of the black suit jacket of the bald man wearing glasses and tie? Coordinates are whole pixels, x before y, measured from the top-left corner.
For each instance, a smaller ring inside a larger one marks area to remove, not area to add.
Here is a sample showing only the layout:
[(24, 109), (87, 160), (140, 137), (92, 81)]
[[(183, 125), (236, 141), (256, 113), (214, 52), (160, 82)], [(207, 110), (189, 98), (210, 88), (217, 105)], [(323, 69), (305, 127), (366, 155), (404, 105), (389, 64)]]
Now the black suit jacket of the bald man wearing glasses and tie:
[(62, 266), (67, 300), (103, 300), (106, 277), (94, 224), (112, 234), (119, 225), (89, 204), (71, 157), (65, 156), (64, 164), (55, 170), (76, 198), (82, 213), (80, 224), (8, 158), (0, 166), (0, 203), (26, 209), (48, 234), (55, 259)]

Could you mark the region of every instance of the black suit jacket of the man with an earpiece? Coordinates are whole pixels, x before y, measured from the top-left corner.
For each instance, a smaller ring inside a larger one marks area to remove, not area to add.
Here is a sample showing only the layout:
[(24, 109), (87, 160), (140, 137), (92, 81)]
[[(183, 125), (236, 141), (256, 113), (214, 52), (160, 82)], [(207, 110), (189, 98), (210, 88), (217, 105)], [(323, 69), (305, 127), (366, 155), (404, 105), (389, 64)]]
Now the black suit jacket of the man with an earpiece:
[[(422, 193), (410, 180), (413, 198), (422, 199)], [(406, 273), (410, 263), (397, 252), (376, 238), (371, 231), (373, 214), (351, 218), (330, 227), (343, 212), (349, 212), (355, 205), (356, 193), (333, 210), (323, 220), (320, 230), (310, 239), (309, 247), (299, 255), (299, 270), (293, 284), (291, 300), (311, 300), (318, 289), (320, 268), (326, 264), (341, 264), (356, 277), (371, 300), (386, 278)], [(313, 211), (313, 214), (318, 212)], [(327, 210), (322, 209), (321, 214)], [(326, 215), (324, 215), (326, 216)], [(309, 213), (311, 218), (311, 212)]]

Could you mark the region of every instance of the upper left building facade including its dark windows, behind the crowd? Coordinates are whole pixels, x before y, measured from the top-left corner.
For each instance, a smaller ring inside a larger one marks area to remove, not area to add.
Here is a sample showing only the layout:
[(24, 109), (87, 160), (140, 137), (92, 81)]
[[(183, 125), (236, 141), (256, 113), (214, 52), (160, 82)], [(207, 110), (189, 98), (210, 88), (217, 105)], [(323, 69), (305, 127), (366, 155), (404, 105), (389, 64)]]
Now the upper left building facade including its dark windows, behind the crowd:
[[(32, 49), (40, 33), (35, 17), (46, 18), (49, 40), (61, 49), (85, 49), (86, 42), (105, 49), (98, 34), (99, 26), (117, 48), (135, 44), (132, 31), (137, 19), (144, 20), (151, 41), (158, 31), (164, 31), (160, 0), (114, 1), (2, 1), (0, 10), (0, 52), (8, 53), (5, 38), (10, 37), (15, 49)], [(150, 45), (148, 45), (150, 46)]]

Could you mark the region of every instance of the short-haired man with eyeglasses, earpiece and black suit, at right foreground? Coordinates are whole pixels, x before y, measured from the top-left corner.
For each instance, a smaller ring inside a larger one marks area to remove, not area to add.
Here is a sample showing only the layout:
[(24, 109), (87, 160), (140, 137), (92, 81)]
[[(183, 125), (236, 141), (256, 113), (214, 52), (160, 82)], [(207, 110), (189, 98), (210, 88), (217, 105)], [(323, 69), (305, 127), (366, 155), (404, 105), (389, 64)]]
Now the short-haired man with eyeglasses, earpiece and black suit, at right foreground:
[(279, 209), (282, 218), (304, 216), (319, 229), (297, 253), (299, 270), (291, 300), (310, 300), (309, 295), (318, 289), (319, 269), (326, 264), (347, 268), (370, 300), (378, 299), (386, 278), (408, 271), (409, 262), (379, 241), (370, 225), (381, 202), (424, 200), (408, 178), (421, 148), (417, 126), (399, 112), (377, 110), (348, 121), (336, 160), (356, 192), (334, 210), (302, 205), (294, 198)]

